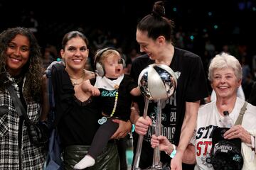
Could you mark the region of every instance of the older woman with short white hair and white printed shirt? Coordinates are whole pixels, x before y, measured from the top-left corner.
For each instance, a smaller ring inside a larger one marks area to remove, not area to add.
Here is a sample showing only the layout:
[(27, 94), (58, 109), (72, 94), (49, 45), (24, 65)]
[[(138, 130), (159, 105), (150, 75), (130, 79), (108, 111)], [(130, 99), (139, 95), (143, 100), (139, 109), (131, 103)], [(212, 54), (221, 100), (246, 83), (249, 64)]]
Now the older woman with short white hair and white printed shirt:
[[(226, 53), (216, 55), (210, 62), (208, 79), (216, 93), (216, 101), (201, 106), (198, 110), (196, 129), (191, 145), (186, 149), (183, 159), (188, 163), (196, 162), (195, 169), (212, 170), (213, 166), (234, 166), (228, 163), (211, 164), (211, 150), (213, 149), (213, 131), (223, 128), (224, 111), (228, 111), (233, 123), (238, 119), (245, 101), (238, 98), (237, 91), (242, 81), (242, 67), (238, 60)], [(243, 164), (238, 164), (242, 170), (255, 169), (255, 135), (256, 135), (256, 107), (247, 104), (242, 123), (227, 130), (225, 140), (239, 138), (241, 140), (241, 154)], [(151, 146), (159, 146), (161, 150), (171, 153), (171, 144), (165, 137), (155, 135), (151, 138)], [(196, 156), (196, 157), (195, 157)], [(196, 159), (195, 159), (196, 158)], [(223, 158), (225, 159), (225, 158)], [(234, 160), (234, 159), (233, 159)], [(183, 160), (184, 162), (184, 160)], [(235, 167), (235, 169), (239, 169)]]

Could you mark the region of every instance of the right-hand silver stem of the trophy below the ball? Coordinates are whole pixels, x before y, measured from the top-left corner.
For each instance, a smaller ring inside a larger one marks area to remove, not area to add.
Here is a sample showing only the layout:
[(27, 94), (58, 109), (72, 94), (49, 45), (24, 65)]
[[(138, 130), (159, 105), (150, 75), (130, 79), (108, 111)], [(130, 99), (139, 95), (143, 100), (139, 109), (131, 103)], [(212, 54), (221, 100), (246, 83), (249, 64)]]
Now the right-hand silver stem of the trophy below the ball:
[[(156, 117), (155, 135), (156, 136), (161, 135), (161, 99), (158, 99), (157, 101), (157, 117)], [(150, 169), (162, 169), (162, 165), (160, 162), (159, 147), (154, 148), (153, 164)]]

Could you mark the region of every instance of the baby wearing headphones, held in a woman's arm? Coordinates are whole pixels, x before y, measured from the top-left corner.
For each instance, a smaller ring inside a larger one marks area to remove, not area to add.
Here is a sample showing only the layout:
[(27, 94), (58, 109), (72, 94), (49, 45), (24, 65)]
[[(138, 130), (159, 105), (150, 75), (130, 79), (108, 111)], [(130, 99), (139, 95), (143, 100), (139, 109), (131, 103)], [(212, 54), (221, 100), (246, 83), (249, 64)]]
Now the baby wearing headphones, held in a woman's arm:
[[(90, 149), (85, 157), (75, 164), (75, 169), (85, 169), (93, 166), (95, 159), (103, 151), (110, 137), (117, 131), (119, 124), (113, 119), (129, 120), (132, 96), (139, 96), (138, 85), (123, 73), (125, 62), (121, 53), (114, 48), (105, 48), (95, 55), (97, 77), (95, 85), (88, 81), (82, 84), (82, 91), (90, 91), (93, 95), (100, 95), (102, 118)], [(95, 88), (96, 87), (96, 88)]]

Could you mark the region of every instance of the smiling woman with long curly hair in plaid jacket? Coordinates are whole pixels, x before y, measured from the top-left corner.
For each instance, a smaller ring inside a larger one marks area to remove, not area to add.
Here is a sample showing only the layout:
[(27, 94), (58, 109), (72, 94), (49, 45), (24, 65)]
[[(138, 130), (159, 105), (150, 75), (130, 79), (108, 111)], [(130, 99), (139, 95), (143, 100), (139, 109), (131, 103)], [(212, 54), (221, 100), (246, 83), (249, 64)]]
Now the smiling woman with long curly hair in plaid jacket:
[(46, 153), (31, 143), (7, 88), (12, 86), (28, 118), (37, 123), (41, 113), (41, 49), (27, 28), (0, 34), (0, 169), (43, 169)]

